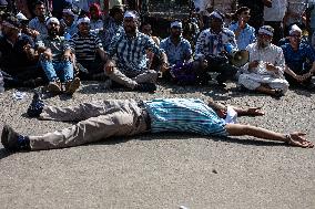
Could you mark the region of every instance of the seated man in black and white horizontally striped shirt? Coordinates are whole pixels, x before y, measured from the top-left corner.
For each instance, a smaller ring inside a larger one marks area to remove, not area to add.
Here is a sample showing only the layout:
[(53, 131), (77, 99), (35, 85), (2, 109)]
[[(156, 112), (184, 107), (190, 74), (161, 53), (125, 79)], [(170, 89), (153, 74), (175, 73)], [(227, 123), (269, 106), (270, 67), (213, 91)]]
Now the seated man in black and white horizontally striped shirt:
[(80, 72), (82, 80), (95, 80), (96, 75), (104, 74), (105, 52), (102, 41), (90, 32), (90, 19), (88, 17), (78, 20), (79, 32), (69, 41), (71, 51), (75, 54), (77, 63), (81, 64), (88, 72)]

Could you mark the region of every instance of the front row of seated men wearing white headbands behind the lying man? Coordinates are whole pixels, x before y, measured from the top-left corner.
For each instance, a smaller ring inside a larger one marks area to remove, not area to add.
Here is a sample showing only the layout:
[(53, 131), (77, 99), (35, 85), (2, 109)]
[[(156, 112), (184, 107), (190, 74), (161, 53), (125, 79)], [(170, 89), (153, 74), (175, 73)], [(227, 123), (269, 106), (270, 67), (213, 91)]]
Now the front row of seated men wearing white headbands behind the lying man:
[[(292, 28), (289, 42), (282, 48), (272, 44), (274, 30), (262, 27), (257, 39), (245, 48), (248, 62), (236, 67), (228, 62), (226, 51), (227, 46), (237, 49), (235, 35), (240, 36), (242, 30), (237, 28), (238, 32), (233, 32), (223, 27), (223, 21), (222, 13), (212, 12), (210, 28), (199, 35), (193, 54), (190, 42), (182, 38), (180, 21), (171, 23), (171, 35), (159, 46), (151, 36), (138, 31), (140, 21), (133, 11), (124, 13), (123, 30), (113, 35), (106, 51), (100, 38), (90, 31), (87, 17), (78, 20), (78, 33), (69, 41), (59, 35), (60, 21), (49, 18), (48, 34), (39, 35), (34, 46), (19, 34), (20, 22), (7, 17), (0, 40), (1, 70), (7, 86), (26, 85), (21, 82), (26, 80), (37, 84), (37, 80), (29, 79), (44, 72), (48, 90), (55, 94), (73, 94), (80, 86), (79, 77), (109, 77), (132, 90), (153, 92), (159, 72), (182, 84), (206, 84), (211, 79), (209, 72), (217, 72), (220, 86), (225, 86), (227, 80), (238, 79), (242, 86), (274, 96), (284, 95), (288, 83), (313, 87), (309, 84), (315, 72), (315, 54), (308, 44), (301, 42), (298, 27)], [(17, 62), (17, 58), (21, 62)], [(154, 59), (160, 62), (154, 63)], [(75, 69), (80, 69), (79, 77)]]

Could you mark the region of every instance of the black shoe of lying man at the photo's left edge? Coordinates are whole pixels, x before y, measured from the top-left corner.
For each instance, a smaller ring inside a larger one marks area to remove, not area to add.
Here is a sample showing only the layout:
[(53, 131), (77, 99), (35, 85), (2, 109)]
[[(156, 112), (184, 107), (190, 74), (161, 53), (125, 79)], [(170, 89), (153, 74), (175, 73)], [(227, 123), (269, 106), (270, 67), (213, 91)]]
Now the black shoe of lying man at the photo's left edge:
[(29, 138), (18, 134), (8, 125), (3, 126), (1, 143), (6, 149), (11, 151), (30, 149)]

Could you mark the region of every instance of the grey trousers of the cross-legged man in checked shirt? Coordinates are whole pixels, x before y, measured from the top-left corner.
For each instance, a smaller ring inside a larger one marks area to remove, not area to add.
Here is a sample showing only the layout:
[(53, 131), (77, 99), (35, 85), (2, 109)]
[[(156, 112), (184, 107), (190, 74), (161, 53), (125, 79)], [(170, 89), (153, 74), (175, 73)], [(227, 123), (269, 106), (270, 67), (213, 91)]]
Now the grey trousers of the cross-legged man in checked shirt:
[(124, 85), (130, 88), (134, 88), (139, 83), (155, 83), (158, 79), (158, 72), (154, 70), (148, 70), (139, 75), (125, 75), (118, 67), (114, 67), (112, 73), (105, 73), (112, 81)]

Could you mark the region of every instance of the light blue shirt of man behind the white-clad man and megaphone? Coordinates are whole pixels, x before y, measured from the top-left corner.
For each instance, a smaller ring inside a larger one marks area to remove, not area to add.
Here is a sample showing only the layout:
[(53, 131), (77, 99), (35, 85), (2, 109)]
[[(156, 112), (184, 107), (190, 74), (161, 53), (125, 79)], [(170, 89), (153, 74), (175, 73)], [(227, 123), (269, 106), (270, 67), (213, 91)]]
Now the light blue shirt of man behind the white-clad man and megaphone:
[[(238, 22), (231, 23), (228, 29), (235, 33), (238, 28)], [(254, 43), (256, 40), (255, 29), (246, 23), (245, 29), (243, 29), (238, 36), (236, 38), (236, 43), (238, 50), (245, 50), (247, 45)]]

